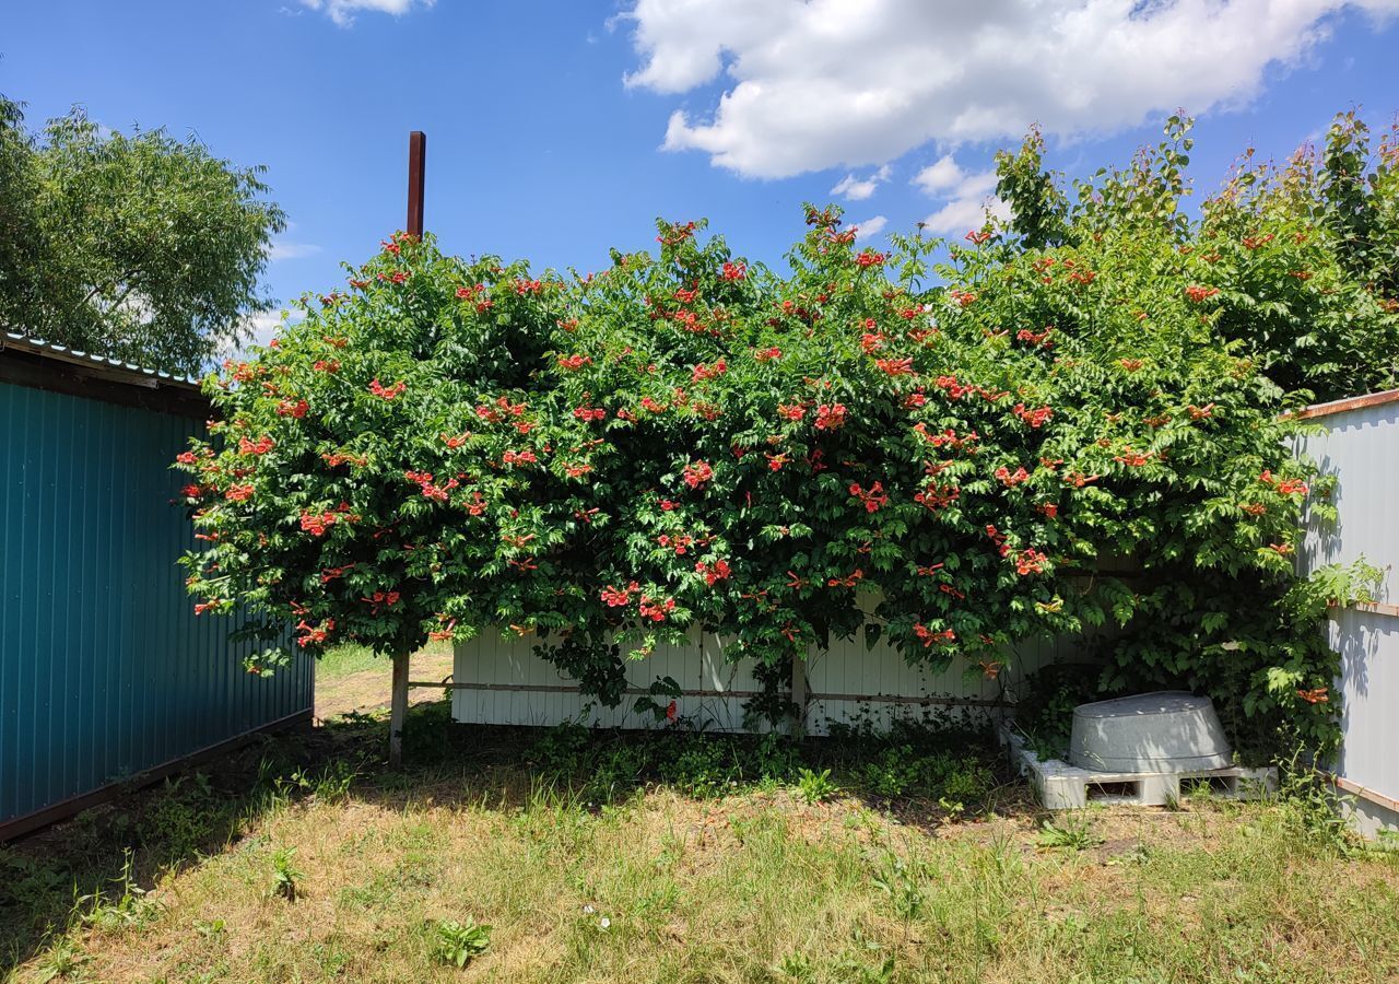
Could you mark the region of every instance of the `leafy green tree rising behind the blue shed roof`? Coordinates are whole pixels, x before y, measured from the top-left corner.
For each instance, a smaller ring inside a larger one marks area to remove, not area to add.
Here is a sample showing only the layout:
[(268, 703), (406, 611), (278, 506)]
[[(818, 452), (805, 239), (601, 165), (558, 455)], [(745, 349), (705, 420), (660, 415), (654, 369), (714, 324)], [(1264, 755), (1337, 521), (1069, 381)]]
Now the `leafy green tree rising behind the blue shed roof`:
[(203, 372), (271, 307), (259, 279), (285, 220), (263, 172), (81, 109), (31, 136), (0, 97), (0, 325)]

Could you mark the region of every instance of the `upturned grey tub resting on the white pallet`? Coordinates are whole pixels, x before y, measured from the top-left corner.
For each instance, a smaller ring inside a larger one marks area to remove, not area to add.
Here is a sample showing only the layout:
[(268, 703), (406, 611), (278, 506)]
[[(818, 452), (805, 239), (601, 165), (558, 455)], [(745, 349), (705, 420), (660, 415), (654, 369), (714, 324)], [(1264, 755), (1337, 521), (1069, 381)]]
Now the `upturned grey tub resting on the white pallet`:
[(1073, 710), (1069, 761), (1100, 773), (1203, 773), (1233, 764), (1214, 704), (1181, 690)]

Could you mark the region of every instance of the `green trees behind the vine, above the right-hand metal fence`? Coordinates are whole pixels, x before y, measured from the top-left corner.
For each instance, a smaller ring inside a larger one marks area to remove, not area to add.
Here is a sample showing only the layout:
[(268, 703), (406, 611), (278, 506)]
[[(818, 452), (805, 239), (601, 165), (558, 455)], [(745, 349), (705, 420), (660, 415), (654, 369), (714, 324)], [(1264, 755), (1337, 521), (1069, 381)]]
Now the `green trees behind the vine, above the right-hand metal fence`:
[(996, 158), (1011, 209), (1006, 244), (1035, 252), (1121, 238), (1135, 248), (1164, 235), (1182, 259), (1161, 253), (1161, 281), (1184, 276), (1184, 258), (1203, 259), (1189, 272), (1214, 291), (1213, 332), (1297, 400), (1399, 384), (1399, 127), (1371, 153), (1364, 122), (1349, 112), (1319, 154), (1302, 147), (1274, 165), (1247, 151), (1193, 217), (1191, 126), (1172, 116), (1161, 144), (1076, 182), (1073, 202), (1044, 169), (1044, 141), (1031, 132), (1017, 154)]

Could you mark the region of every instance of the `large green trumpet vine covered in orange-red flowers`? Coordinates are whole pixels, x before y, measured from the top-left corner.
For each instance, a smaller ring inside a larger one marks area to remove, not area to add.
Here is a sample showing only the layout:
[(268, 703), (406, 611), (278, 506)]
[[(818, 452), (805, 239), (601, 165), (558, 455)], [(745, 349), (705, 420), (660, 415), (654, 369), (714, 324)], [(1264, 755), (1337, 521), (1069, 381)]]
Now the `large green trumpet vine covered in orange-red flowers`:
[(995, 675), (1111, 626), (1108, 684), (1210, 693), (1245, 745), (1333, 735), (1319, 626), (1351, 579), (1294, 578), (1325, 487), (1217, 330), (1277, 258), (1221, 242), (1227, 294), (1172, 224), (939, 252), (806, 218), (786, 272), (702, 223), (586, 276), (386, 241), (208, 381), (199, 607), (312, 652), (534, 634), (609, 703), (695, 623), (774, 690), (832, 635)]

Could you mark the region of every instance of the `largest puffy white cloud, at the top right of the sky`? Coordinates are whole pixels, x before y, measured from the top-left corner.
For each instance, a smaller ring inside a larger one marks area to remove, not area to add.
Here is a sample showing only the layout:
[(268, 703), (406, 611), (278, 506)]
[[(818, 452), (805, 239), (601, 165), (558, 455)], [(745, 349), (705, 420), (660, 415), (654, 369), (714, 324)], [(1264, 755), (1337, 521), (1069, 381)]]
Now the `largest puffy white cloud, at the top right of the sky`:
[(1399, 0), (634, 0), (620, 20), (639, 57), (627, 85), (723, 81), (711, 113), (672, 113), (667, 150), (783, 178), (1034, 122), (1108, 133), (1238, 106), (1346, 8), (1379, 18)]

